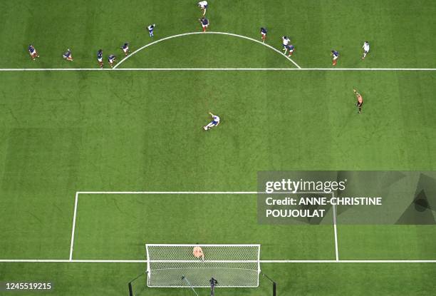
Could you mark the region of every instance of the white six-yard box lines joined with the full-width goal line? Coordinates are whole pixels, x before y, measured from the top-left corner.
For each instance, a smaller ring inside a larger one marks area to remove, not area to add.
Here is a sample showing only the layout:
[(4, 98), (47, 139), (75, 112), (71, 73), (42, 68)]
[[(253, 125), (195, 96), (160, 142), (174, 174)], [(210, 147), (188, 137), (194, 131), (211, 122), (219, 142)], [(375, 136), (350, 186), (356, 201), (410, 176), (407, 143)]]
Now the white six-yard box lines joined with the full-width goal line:
[[(281, 192), (279, 194), (326, 194), (324, 192)], [(0, 259), (0, 262), (76, 262), (76, 263), (147, 263), (147, 260), (77, 260), (73, 259), (74, 233), (76, 229), (76, 215), (78, 209), (78, 196), (80, 194), (225, 194), (225, 195), (257, 195), (268, 194), (257, 191), (77, 191), (74, 200), (73, 227), (71, 230), (71, 246), (69, 259)], [(331, 193), (334, 197), (334, 193)], [(436, 260), (339, 260), (338, 232), (336, 227), (336, 206), (333, 208), (333, 229), (335, 236), (336, 260), (260, 260), (261, 263), (436, 263)]]

